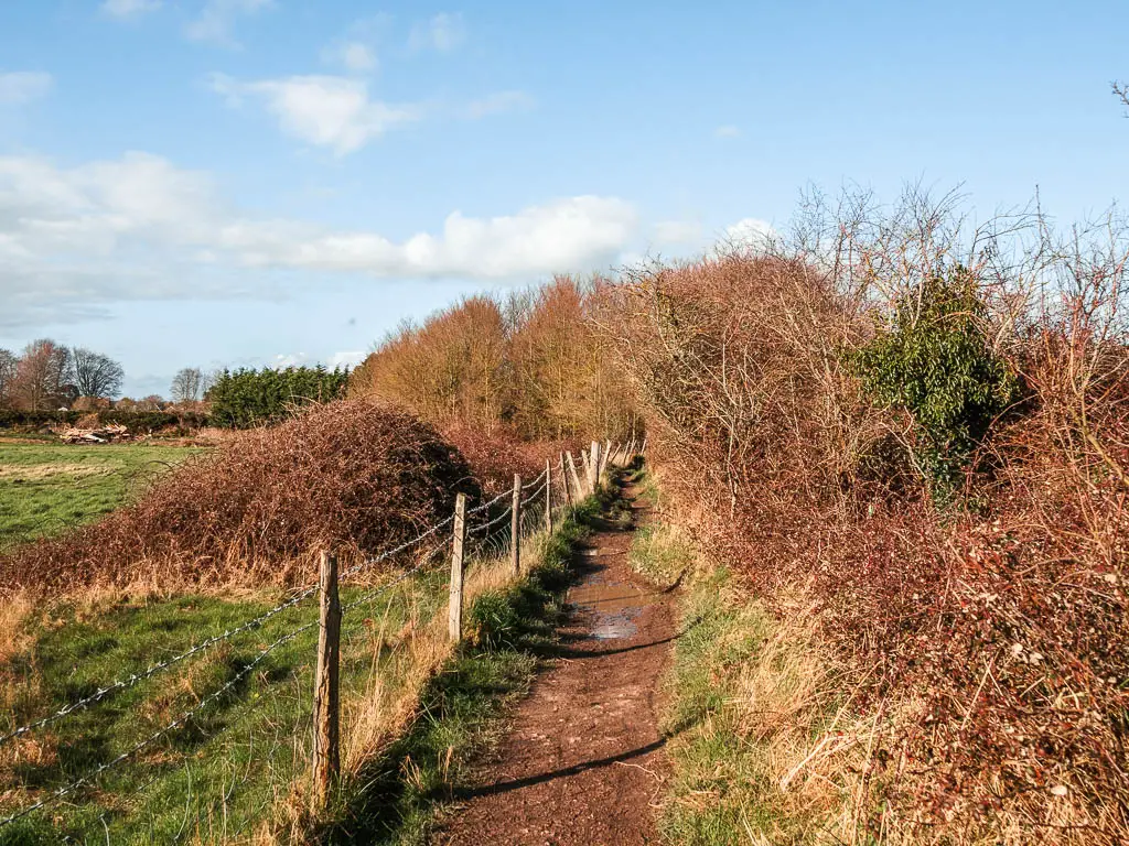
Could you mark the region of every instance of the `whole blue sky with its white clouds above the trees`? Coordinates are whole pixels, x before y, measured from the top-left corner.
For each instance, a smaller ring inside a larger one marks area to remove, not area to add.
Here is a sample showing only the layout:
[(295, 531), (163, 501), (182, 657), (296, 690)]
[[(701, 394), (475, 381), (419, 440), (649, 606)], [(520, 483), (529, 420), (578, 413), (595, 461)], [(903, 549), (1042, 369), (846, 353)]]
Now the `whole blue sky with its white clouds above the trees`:
[(357, 360), (460, 294), (782, 226), (808, 184), (1129, 187), (1123, 2), (5, 0), (0, 346)]

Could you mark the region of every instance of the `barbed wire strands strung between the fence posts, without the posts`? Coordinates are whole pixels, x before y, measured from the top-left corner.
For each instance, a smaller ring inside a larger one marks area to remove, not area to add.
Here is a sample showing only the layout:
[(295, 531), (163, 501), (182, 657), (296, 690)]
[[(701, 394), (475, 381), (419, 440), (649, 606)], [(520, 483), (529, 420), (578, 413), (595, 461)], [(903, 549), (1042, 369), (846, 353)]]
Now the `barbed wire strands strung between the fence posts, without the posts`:
[[(546, 488), (550, 487), (551, 483), (552, 483), (552, 474), (551, 474), (550, 468), (546, 467), (546, 469), (543, 470), (535, 479), (533, 479), (527, 485), (522, 486), (522, 491), (523, 492), (530, 491), (533, 487), (536, 487), (536, 490), (534, 490), (532, 493), (528, 493), (528, 495), (524, 500), (519, 500), (518, 501), (518, 508), (520, 509), (520, 512), (519, 512), (520, 513), (520, 519), (519, 519), (519, 529), (518, 529), (518, 534), (519, 535), (524, 535), (526, 532), (526, 528), (531, 523), (532, 518), (534, 517), (534, 514), (532, 512), (534, 510), (539, 510), (539, 509), (531, 509), (531, 510), (527, 511), (525, 509), (525, 505), (527, 505), (531, 502), (539, 501), (539, 503), (543, 503), (543, 508), (544, 509), (551, 509), (552, 508), (552, 503), (550, 502), (550, 497), (545, 497), (544, 500), (539, 500), (539, 497), (541, 497), (542, 494), (545, 493)], [(564, 485), (568, 485), (567, 478), (562, 479), (562, 483)], [(506, 491), (506, 492), (499, 494), (498, 496), (495, 496), (493, 499), (491, 499), (491, 500), (489, 500), (487, 502), (483, 502), (483, 503), (474, 506), (473, 509), (465, 510), (464, 517), (462, 519), (465, 520), (465, 515), (479, 514), (479, 513), (482, 513), (482, 512), (487, 512), (487, 517), (489, 518), (489, 511), (488, 510), (492, 505), (496, 505), (497, 503), (499, 503), (505, 497), (511, 496), (514, 493), (516, 493), (516, 492)], [(577, 497), (576, 499), (580, 499), (580, 492), (577, 492)], [(576, 499), (574, 499), (572, 502), (575, 502)], [(561, 501), (559, 503), (559, 505), (560, 505), (560, 508), (567, 508), (564, 501)], [(514, 505), (513, 504), (507, 505), (505, 509), (501, 510), (501, 512), (499, 514), (495, 515), (493, 518), (489, 518), (484, 522), (480, 523), (479, 526), (476, 526), (476, 527), (474, 527), (474, 528), (465, 531), (464, 537), (478, 536), (479, 534), (485, 532), (484, 536), (483, 536), (483, 538), (482, 538), (482, 540), (481, 540), (481, 544), (483, 546), (488, 545), (490, 543), (490, 539), (491, 539), (491, 531), (490, 530), (493, 527), (496, 527), (498, 523), (500, 523), (504, 520), (506, 520), (507, 518), (511, 517), (513, 511), (514, 511)], [(541, 510), (541, 515), (542, 517), (544, 515), (544, 511), (543, 510)], [(413, 538), (411, 538), (409, 540), (405, 540), (405, 541), (396, 545), (395, 547), (393, 547), (391, 549), (387, 549), (387, 550), (385, 550), (385, 552), (383, 552), (383, 553), (380, 553), (380, 554), (378, 554), (376, 556), (371, 556), (371, 557), (362, 559), (361, 562), (359, 562), (359, 563), (355, 564), (353, 566), (351, 566), (351, 567), (347, 569), (345, 571), (343, 571), (340, 574), (340, 576), (344, 578), (344, 576), (348, 576), (348, 575), (352, 575), (352, 574), (355, 574), (357, 572), (360, 572), (361, 570), (365, 570), (365, 569), (371, 567), (371, 566), (374, 566), (374, 565), (376, 565), (378, 563), (388, 561), (390, 558), (395, 557), (396, 555), (399, 555), (399, 554), (401, 554), (401, 553), (410, 549), (411, 547), (420, 544), (421, 541), (426, 540), (427, 538), (432, 537), (437, 532), (439, 532), (443, 529), (445, 529), (446, 527), (450, 526), (455, 521), (455, 519), (456, 519), (456, 514), (452, 514), (452, 515), (445, 518), (444, 520), (440, 520), (440, 521), (436, 522), (435, 525), (432, 525), (428, 529), (423, 530), (422, 532), (420, 532), (415, 537), (413, 537)], [(361, 594), (361, 596), (352, 599), (350, 602), (348, 602), (348, 603), (345, 603), (343, 606), (339, 605), (339, 611), (338, 611), (339, 613), (339, 618), (340, 618), (340, 614), (342, 614), (342, 613), (344, 613), (347, 610), (355, 609), (355, 608), (357, 608), (357, 607), (359, 607), (359, 606), (361, 606), (364, 603), (373, 601), (377, 597), (379, 597), (379, 596), (384, 594), (385, 592), (392, 590), (393, 588), (395, 588), (396, 585), (403, 583), (408, 579), (412, 578), (412, 576), (419, 574), (420, 572), (422, 572), (423, 570), (428, 569), (429, 565), (431, 564), (432, 559), (435, 558), (436, 554), (439, 553), (439, 552), (441, 552), (443, 549), (445, 549), (448, 545), (450, 545), (452, 540), (453, 540), (453, 535), (448, 534), (447, 537), (445, 537), (437, 545), (435, 545), (430, 549), (428, 549), (427, 553), (425, 553), (422, 556), (420, 556), (419, 559), (418, 559), (418, 563), (414, 566), (411, 566), (411, 567), (404, 570), (403, 572), (399, 573), (395, 578), (393, 578), (391, 581), (387, 581), (387, 582), (385, 582), (385, 583), (383, 583), (383, 584), (380, 584), (380, 585), (378, 585), (378, 587), (376, 587), (376, 588), (374, 588), (374, 589), (365, 592), (364, 594)], [(510, 539), (510, 544), (514, 544), (516, 541), (517, 541), (516, 537)], [(458, 549), (458, 548), (460, 547), (456, 547), (456, 549)], [(461, 556), (461, 553), (460, 553), (460, 556)], [(460, 564), (460, 566), (461, 566), (461, 564)], [(56, 712), (54, 712), (52, 714), (49, 714), (49, 715), (46, 715), (46, 716), (44, 716), (44, 717), (42, 717), (40, 720), (36, 720), (36, 721), (34, 721), (32, 723), (28, 723), (26, 725), (19, 726), (17, 729), (12, 730), (12, 731), (9, 731), (7, 734), (0, 735), (0, 746), (2, 746), (3, 743), (7, 743), (9, 741), (12, 741), (16, 738), (19, 738), (19, 737), (21, 737), (24, 734), (27, 734), (27, 733), (33, 732), (35, 730), (45, 728), (47, 725), (51, 725), (54, 722), (58, 722), (58, 721), (63, 720), (63, 719), (65, 719), (68, 716), (71, 716), (72, 714), (76, 714), (76, 713), (78, 713), (78, 712), (80, 712), (80, 711), (82, 711), (82, 710), (85, 710), (85, 708), (87, 708), (87, 707), (89, 707), (91, 705), (95, 705), (95, 704), (102, 702), (103, 699), (105, 699), (106, 697), (111, 696), (112, 694), (115, 694), (117, 691), (121, 691), (121, 690), (128, 689), (130, 687), (133, 687), (134, 685), (138, 685), (141, 681), (145, 681), (146, 679), (149, 679), (149, 678), (156, 676), (157, 673), (161, 672), (163, 670), (166, 670), (166, 669), (168, 669), (168, 668), (170, 668), (170, 667), (173, 667), (173, 666), (175, 666), (175, 664), (177, 664), (177, 663), (180, 663), (182, 661), (185, 661), (189, 658), (192, 658), (193, 655), (200, 654), (200, 653), (207, 651), (208, 649), (215, 646), (218, 643), (228, 641), (231, 637), (237, 636), (238, 634), (242, 634), (244, 632), (248, 632), (248, 631), (251, 631), (253, 628), (260, 627), (260, 626), (264, 625), (271, 618), (275, 617), (277, 615), (282, 614), (287, 609), (290, 609), (290, 608), (294, 608), (294, 607), (298, 606), (303, 600), (307, 599), (308, 597), (313, 596), (314, 593), (317, 593), (318, 590), (322, 587), (323, 585), (321, 583), (308, 585), (308, 587), (299, 590), (296, 594), (294, 594), (292, 597), (290, 597), (286, 601), (280, 602), (279, 605), (274, 606), (273, 608), (269, 609), (268, 611), (259, 615), (257, 617), (255, 617), (255, 618), (253, 618), (253, 619), (251, 619), (251, 620), (248, 620), (248, 622), (246, 622), (246, 623), (244, 623), (244, 624), (242, 624), (239, 626), (236, 626), (234, 628), (229, 628), (229, 629), (227, 629), (227, 631), (225, 631), (225, 632), (222, 632), (220, 634), (213, 635), (212, 637), (209, 637), (208, 640), (202, 641), (201, 643), (192, 646), (191, 649), (189, 649), (189, 650), (186, 650), (186, 651), (184, 651), (184, 652), (182, 652), (182, 653), (180, 653), (177, 655), (174, 655), (174, 656), (172, 656), (169, 659), (166, 659), (164, 661), (160, 661), (160, 662), (157, 662), (155, 664), (151, 664), (148, 669), (146, 669), (142, 672), (133, 673), (133, 675), (128, 676), (128, 677), (123, 677), (123, 678), (121, 678), (121, 679), (112, 682), (111, 685), (107, 685), (106, 687), (98, 688), (95, 693), (89, 694), (88, 696), (85, 696), (85, 697), (82, 697), (80, 699), (77, 699), (77, 700), (68, 704), (67, 706), (60, 708), (59, 711), (56, 711)], [(324, 615), (324, 601), (325, 601), (325, 598), (324, 598), (324, 591), (323, 591), (323, 615)], [(461, 600), (461, 594), (460, 594), (460, 601), (462, 601)], [(285, 644), (290, 643), (291, 641), (294, 641), (295, 638), (297, 638), (299, 635), (304, 634), (305, 632), (308, 632), (308, 631), (310, 631), (310, 629), (313, 629), (315, 627), (318, 627), (320, 625), (322, 625), (322, 620), (315, 619), (315, 620), (312, 620), (312, 622), (306, 623), (304, 625), (297, 626), (296, 628), (292, 628), (292, 629), (288, 631), (288, 632), (286, 632), (285, 634), (280, 635), (275, 641), (273, 641), (271, 644), (269, 644), (268, 646), (265, 646), (264, 649), (262, 649), (253, 659), (251, 659), (226, 684), (224, 684), (221, 687), (219, 687), (212, 694), (208, 695), (207, 697), (204, 697), (203, 699), (201, 699), (200, 702), (198, 702), (193, 707), (184, 711), (178, 717), (176, 717), (175, 720), (173, 720), (172, 722), (169, 722), (167, 725), (163, 726), (161, 729), (152, 732), (148, 737), (146, 737), (142, 740), (138, 741), (137, 743), (134, 743), (129, 749), (126, 749), (123, 752), (119, 754), (116, 757), (114, 757), (114, 758), (112, 758), (112, 759), (110, 759), (110, 760), (107, 760), (107, 761), (105, 761), (105, 763), (103, 763), (103, 764), (100, 764), (100, 765), (98, 765), (98, 766), (89, 769), (87, 773), (85, 773), (84, 775), (79, 776), (77, 779), (71, 781), (69, 784), (65, 784), (65, 785), (63, 785), (61, 787), (55, 788), (54, 791), (52, 791), (51, 793), (46, 794), (45, 796), (43, 796), (42, 799), (37, 800), (36, 802), (32, 803), (30, 805), (27, 805), (27, 807), (20, 809), (19, 811), (12, 813), (11, 816), (9, 816), (7, 818), (0, 819), (0, 829), (2, 829), (5, 827), (7, 827), (7, 826), (9, 826), (9, 825), (11, 825), (11, 823), (20, 820), (20, 819), (26, 818), (27, 816), (34, 813), (35, 811), (38, 811), (38, 810), (41, 810), (43, 808), (46, 808), (49, 805), (52, 805), (52, 804), (54, 804), (54, 803), (56, 803), (56, 802), (65, 799), (68, 795), (75, 793), (76, 791), (78, 791), (79, 788), (81, 788), (84, 785), (93, 783), (103, 773), (105, 773), (105, 772), (107, 772), (110, 769), (113, 769), (114, 767), (120, 766), (121, 764), (123, 764), (124, 761), (131, 759), (133, 756), (135, 756), (137, 754), (139, 754), (143, 749), (146, 749), (149, 746), (152, 746), (154, 743), (156, 743), (160, 738), (167, 735), (169, 732), (176, 730), (180, 726), (183, 726), (183, 725), (187, 724), (189, 721), (191, 721), (203, 708), (208, 707), (211, 703), (215, 703), (218, 699), (220, 699), (226, 693), (228, 693), (237, 684), (239, 684), (239, 681), (242, 681), (244, 678), (246, 678), (252, 672), (252, 670), (254, 670), (255, 667), (257, 667), (259, 664), (261, 664), (266, 659), (268, 655), (270, 655), (272, 652), (274, 652), (279, 647), (283, 646)], [(356, 626), (352, 626), (351, 628), (356, 628)], [(339, 635), (340, 635), (340, 631), (339, 631)]]

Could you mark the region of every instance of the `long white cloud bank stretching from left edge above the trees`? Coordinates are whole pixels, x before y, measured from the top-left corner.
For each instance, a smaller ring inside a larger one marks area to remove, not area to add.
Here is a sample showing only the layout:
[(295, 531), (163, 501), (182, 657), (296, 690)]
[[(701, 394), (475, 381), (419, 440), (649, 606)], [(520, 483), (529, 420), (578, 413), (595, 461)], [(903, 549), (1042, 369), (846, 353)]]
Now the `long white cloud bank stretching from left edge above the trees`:
[(396, 241), (242, 214), (208, 174), (148, 153), (76, 168), (0, 157), (0, 326), (88, 319), (113, 301), (269, 296), (271, 276), (248, 267), (527, 281), (606, 267), (636, 228), (629, 203), (578, 196), (490, 218), (456, 211)]

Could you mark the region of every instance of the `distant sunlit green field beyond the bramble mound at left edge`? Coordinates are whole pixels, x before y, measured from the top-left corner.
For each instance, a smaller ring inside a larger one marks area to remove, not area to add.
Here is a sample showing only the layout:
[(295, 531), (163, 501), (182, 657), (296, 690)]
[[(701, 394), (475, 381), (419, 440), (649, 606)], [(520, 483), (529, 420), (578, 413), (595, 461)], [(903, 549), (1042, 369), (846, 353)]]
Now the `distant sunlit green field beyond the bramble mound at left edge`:
[(98, 519), (199, 451), (0, 442), (0, 550)]

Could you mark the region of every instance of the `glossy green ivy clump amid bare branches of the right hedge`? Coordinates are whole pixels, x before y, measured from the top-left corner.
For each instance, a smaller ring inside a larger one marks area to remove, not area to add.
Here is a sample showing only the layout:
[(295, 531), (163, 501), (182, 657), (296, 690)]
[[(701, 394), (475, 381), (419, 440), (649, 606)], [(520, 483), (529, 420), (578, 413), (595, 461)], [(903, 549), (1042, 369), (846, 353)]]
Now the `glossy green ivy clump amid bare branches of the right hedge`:
[(891, 324), (849, 358), (870, 396), (912, 415), (918, 461), (940, 490), (952, 487), (1019, 394), (1015, 374), (990, 347), (984, 312), (975, 280), (957, 266), (910, 291)]

